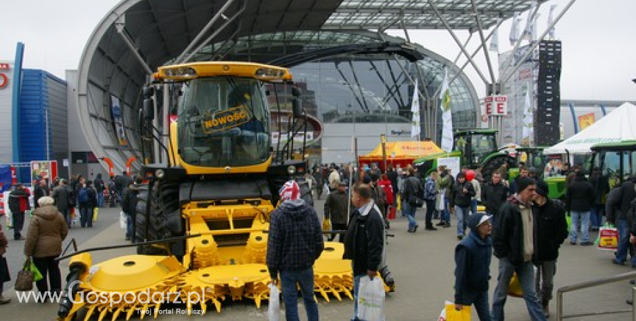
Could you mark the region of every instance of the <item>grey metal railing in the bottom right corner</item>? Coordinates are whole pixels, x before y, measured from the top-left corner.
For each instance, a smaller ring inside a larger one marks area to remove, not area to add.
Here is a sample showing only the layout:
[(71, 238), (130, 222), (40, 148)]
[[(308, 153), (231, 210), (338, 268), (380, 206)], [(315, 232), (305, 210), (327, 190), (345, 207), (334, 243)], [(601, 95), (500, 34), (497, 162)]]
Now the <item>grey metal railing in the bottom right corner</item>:
[[(588, 289), (594, 286), (610, 284), (610, 283), (624, 281), (624, 280), (634, 280), (634, 279), (636, 279), (636, 271), (622, 273), (619, 275), (609, 276), (607, 278), (601, 278), (598, 280), (591, 280), (591, 281), (586, 281), (586, 282), (581, 282), (581, 283), (561, 287), (559, 290), (557, 290), (557, 321), (563, 321), (563, 319), (565, 318), (577, 318), (577, 317), (606, 315), (606, 314), (615, 314), (615, 313), (628, 313), (630, 311), (632, 312), (632, 321), (636, 321), (636, 309), (634, 309), (633, 304), (632, 304), (632, 309), (615, 310), (615, 311), (599, 311), (599, 312), (593, 312), (593, 313), (579, 313), (579, 314), (572, 314), (567, 316), (563, 315), (563, 293), (577, 291), (581, 289)], [(632, 300), (635, 300), (635, 298), (636, 298), (636, 286), (632, 286)]]

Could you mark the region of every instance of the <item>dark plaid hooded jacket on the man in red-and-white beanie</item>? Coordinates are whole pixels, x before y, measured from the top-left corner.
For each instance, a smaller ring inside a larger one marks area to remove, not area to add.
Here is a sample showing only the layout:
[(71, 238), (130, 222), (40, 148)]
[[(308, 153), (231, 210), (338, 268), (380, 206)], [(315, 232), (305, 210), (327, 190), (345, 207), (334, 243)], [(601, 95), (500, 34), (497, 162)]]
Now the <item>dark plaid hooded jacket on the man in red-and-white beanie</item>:
[(309, 269), (323, 249), (318, 215), (305, 201), (288, 200), (272, 211), (266, 258), (272, 279), (280, 271)]

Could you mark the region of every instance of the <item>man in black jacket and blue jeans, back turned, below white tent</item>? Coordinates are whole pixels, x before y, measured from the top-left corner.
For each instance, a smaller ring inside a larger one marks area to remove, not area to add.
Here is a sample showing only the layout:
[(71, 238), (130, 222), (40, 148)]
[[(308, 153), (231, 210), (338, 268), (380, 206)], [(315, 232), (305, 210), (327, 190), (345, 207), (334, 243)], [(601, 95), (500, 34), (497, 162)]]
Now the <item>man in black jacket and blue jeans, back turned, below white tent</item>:
[(581, 222), (581, 245), (590, 246), (590, 211), (596, 200), (596, 192), (583, 172), (579, 171), (565, 192), (565, 209), (570, 212), (570, 244), (577, 244), (577, 228)]

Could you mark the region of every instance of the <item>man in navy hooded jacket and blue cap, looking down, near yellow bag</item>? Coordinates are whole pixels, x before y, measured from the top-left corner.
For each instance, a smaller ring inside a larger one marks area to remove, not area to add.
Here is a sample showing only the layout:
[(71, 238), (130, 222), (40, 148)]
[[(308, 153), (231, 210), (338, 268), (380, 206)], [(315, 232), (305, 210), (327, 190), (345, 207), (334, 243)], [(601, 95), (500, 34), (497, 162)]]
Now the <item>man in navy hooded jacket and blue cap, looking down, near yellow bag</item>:
[(474, 304), (480, 321), (490, 321), (488, 280), (492, 257), (492, 224), (483, 213), (468, 219), (470, 233), (455, 248), (455, 309)]

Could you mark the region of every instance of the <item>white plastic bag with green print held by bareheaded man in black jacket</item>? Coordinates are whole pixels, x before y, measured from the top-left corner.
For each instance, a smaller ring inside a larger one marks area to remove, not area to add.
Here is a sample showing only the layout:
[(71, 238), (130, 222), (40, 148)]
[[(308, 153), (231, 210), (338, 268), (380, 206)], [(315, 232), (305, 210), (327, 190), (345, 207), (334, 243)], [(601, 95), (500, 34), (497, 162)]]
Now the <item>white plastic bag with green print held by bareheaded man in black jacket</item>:
[(369, 278), (367, 275), (360, 279), (358, 290), (357, 318), (366, 321), (384, 321), (384, 285), (380, 278)]

